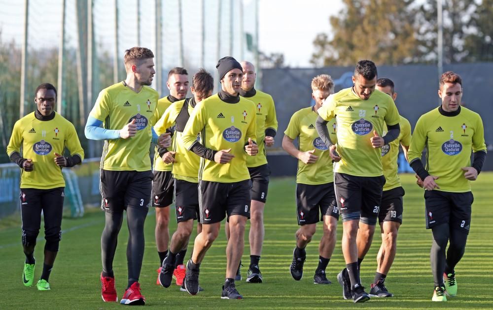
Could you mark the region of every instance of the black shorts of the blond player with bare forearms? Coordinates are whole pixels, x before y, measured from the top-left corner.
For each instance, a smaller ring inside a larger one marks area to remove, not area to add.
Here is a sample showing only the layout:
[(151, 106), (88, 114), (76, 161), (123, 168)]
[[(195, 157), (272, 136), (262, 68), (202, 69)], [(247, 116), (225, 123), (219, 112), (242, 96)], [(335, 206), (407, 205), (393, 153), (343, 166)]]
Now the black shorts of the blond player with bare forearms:
[(318, 185), (296, 184), (296, 206), (298, 225), (315, 224), (323, 220), (323, 216), (339, 219), (333, 182)]

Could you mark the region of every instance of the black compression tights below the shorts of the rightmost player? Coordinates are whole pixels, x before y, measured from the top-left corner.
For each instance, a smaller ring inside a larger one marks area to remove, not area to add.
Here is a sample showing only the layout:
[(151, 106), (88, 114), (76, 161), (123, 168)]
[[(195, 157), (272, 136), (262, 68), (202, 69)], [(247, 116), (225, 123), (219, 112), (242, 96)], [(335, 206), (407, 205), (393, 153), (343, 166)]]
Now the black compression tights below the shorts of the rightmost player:
[[(464, 255), (467, 234), (458, 229), (450, 229), (448, 223), (431, 229), (433, 244), (430, 251), (431, 272), (435, 286), (443, 286), (443, 273), (452, 273)], [(445, 249), (447, 258), (445, 258)]]

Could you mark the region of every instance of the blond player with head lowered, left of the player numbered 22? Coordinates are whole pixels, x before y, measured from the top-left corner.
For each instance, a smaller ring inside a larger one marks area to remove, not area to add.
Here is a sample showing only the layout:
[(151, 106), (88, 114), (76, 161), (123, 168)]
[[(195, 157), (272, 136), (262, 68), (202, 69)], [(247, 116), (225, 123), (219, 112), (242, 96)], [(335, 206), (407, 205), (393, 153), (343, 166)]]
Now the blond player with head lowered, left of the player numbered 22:
[[(334, 173), (332, 158), (327, 146), (318, 136), (315, 122), (317, 111), (323, 101), (333, 92), (334, 82), (329, 75), (322, 74), (312, 80), (312, 98), (315, 106), (303, 108), (294, 113), (284, 131), (282, 148), (291, 156), (298, 158), (296, 174), (296, 204), (298, 225), (296, 248), (291, 263), (291, 276), (295, 280), (303, 277), (303, 265), (306, 259), (306, 246), (312, 241), (317, 222), (323, 222), (323, 235), (318, 246), (318, 266), (313, 282), (330, 284), (325, 269), (330, 261), (336, 244), (336, 228), (339, 219), (336, 196), (334, 193)], [(336, 124), (332, 119), (328, 124), (331, 141), (336, 141)], [(298, 149), (293, 145), (298, 138)]]

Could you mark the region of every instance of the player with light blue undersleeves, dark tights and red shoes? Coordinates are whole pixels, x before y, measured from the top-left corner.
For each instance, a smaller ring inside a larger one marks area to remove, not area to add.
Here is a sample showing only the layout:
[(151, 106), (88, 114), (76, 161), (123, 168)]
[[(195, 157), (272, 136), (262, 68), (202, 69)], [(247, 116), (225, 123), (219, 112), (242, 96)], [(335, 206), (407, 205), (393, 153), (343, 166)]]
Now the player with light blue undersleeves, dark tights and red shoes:
[(99, 93), (85, 128), (88, 139), (105, 140), (100, 185), (106, 218), (101, 236), (101, 295), (105, 302), (118, 301), (113, 258), (125, 210), (129, 230), (128, 285), (120, 303), (145, 304), (139, 276), (152, 186), (149, 145), (151, 141), (165, 148), (171, 145), (169, 133), (158, 138), (152, 129), (158, 113), (158, 93), (149, 87), (156, 73), (153, 58), (152, 51), (145, 47), (125, 51), (126, 79)]

